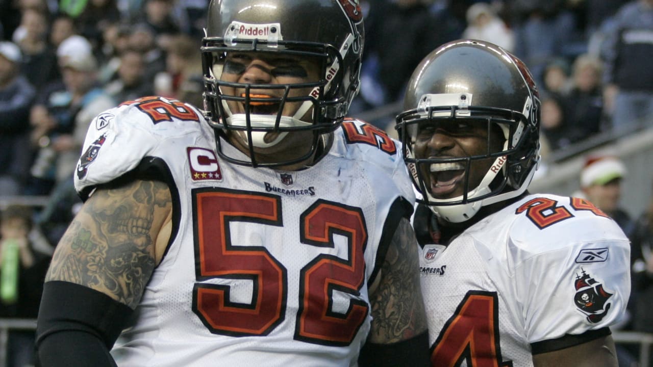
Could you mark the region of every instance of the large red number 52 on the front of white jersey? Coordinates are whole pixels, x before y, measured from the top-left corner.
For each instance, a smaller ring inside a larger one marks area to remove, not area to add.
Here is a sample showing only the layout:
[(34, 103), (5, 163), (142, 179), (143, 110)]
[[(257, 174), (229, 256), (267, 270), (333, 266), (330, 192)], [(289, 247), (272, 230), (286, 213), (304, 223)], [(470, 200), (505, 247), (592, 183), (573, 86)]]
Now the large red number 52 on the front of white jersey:
[[(231, 243), (229, 223), (283, 226), (281, 198), (258, 192), (225, 189), (193, 191), (195, 208), (195, 272), (207, 279), (251, 279), (249, 304), (230, 301), (229, 285), (195, 283), (193, 311), (214, 334), (265, 336), (285, 319), (287, 298), (297, 296), (295, 340), (322, 345), (349, 345), (368, 315), (360, 300), (364, 285), (363, 252), (367, 231), (358, 208), (317, 200), (300, 215), (300, 241), (334, 247), (334, 233), (349, 238), (347, 260), (319, 255), (302, 268), (298, 295), (287, 292), (287, 269), (263, 246)], [(300, 249), (296, 249), (300, 251)], [(350, 294), (345, 313), (331, 310), (334, 291)]]

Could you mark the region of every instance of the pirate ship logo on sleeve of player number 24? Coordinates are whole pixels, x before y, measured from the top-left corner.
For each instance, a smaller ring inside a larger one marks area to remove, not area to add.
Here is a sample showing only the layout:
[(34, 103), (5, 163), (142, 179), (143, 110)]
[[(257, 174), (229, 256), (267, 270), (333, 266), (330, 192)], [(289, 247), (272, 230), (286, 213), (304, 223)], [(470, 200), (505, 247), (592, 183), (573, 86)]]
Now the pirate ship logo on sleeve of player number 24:
[(574, 282), (576, 294), (574, 296), (574, 303), (576, 307), (587, 315), (587, 320), (590, 323), (598, 323), (607, 315), (610, 310), (610, 305), (607, 303), (613, 293), (607, 292), (603, 289), (603, 284), (587, 274), (581, 268), (581, 275), (576, 276)]

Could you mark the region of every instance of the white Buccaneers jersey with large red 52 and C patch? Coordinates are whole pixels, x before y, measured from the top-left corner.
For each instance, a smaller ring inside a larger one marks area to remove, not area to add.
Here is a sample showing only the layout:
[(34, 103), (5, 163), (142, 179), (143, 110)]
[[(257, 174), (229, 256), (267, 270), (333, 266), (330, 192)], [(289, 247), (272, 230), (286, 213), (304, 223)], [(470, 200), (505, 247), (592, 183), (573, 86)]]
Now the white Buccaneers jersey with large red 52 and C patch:
[(355, 366), (368, 285), (415, 199), (397, 144), (345, 120), (325, 157), (283, 172), (221, 159), (214, 130), (178, 101), (99, 115), (76, 172), (82, 196), (144, 174), (173, 197), (172, 240), (112, 350), (118, 365)]

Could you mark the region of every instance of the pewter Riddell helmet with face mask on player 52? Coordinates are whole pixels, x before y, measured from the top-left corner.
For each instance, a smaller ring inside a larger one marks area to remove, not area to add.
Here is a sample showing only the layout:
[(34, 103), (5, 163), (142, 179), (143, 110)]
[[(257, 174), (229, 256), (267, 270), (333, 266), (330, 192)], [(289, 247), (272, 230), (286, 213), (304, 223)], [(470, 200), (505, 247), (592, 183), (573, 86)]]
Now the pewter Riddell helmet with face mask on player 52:
[[(202, 42), (204, 108), (216, 131), (246, 132), (251, 160), (228, 156), (217, 139), (219, 155), (233, 163), (253, 166), (287, 165), (310, 157), (317, 149), (319, 135), (340, 125), (358, 93), (363, 47), (362, 11), (358, 0), (213, 0), (208, 8), (207, 22)], [(230, 52), (319, 59), (320, 78), (302, 84), (226, 82), (221, 80), (221, 73)], [(226, 92), (236, 88), (246, 93)], [(310, 93), (289, 96), (291, 91), (300, 88)], [(257, 92), (249, 93), (252, 89)], [(262, 94), (262, 90), (270, 94)], [(227, 101), (242, 103), (244, 113), (232, 112)], [(283, 106), (289, 102), (300, 102), (300, 108), (293, 116), (283, 116)], [(261, 108), (261, 105), (266, 107)], [(302, 121), (302, 116), (311, 108), (312, 121)], [(255, 148), (274, 146), (293, 131), (313, 131), (310, 152), (292, 161), (257, 162)], [(270, 132), (278, 133), (271, 142), (264, 140)]]

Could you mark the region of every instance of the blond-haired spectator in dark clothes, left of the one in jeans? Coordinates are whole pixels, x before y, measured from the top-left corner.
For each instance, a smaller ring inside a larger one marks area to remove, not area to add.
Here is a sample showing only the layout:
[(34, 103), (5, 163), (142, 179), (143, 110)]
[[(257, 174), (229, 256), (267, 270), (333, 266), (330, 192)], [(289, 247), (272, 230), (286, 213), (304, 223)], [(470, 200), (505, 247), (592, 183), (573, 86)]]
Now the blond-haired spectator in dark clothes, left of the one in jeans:
[(565, 118), (579, 136), (599, 133), (603, 123), (603, 89), (601, 60), (588, 54), (576, 58), (571, 80), (573, 84), (565, 98)]

